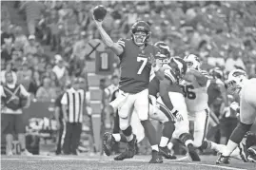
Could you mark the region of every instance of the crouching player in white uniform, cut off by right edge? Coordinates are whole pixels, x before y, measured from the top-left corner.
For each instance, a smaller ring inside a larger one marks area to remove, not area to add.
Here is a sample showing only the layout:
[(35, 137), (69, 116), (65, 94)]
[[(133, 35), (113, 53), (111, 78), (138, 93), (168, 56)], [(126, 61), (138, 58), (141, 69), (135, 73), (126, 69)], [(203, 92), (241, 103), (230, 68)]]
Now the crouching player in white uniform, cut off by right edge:
[[(228, 74), (227, 90), (232, 94), (238, 94), (240, 96), (240, 123), (238, 123), (231, 134), (225, 151), (216, 161), (218, 164), (229, 163), (229, 156), (237, 146), (244, 151), (243, 153), (246, 153), (246, 143), (243, 143), (242, 140), (256, 119), (255, 86), (256, 79), (248, 79), (246, 72), (242, 69), (232, 70)], [(246, 154), (244, 159), (247, 161)]]

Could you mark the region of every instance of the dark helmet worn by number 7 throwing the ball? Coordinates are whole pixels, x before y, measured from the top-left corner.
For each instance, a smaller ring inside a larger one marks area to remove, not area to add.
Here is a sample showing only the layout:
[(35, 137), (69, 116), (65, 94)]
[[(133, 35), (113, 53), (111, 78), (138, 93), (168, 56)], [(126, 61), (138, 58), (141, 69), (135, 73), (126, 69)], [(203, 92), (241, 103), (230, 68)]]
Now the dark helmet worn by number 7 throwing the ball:
[[(135, 35), (136, 32), (144, 32), (145, 35)], [(150, 37), (150, 27), (145, 21), (138, 21), (131, 27), (132, 40), (137, 46), (143, 46), (148, 42)], [(141, 41), (138, 41), (141, 39)]]

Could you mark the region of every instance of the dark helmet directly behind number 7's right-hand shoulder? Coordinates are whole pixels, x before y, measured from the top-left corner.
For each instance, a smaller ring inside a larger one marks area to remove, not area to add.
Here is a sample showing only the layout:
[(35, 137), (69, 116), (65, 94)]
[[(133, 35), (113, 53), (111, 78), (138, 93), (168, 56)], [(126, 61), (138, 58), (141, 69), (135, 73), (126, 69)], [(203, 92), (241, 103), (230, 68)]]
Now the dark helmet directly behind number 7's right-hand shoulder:
[(159, 52), (156, 54), (156, 60), (159, 60), (161, 64), (168, 64), (170, 59), (170, 49), (164, 42), (157, 42), (155, 47), (159, 48)]

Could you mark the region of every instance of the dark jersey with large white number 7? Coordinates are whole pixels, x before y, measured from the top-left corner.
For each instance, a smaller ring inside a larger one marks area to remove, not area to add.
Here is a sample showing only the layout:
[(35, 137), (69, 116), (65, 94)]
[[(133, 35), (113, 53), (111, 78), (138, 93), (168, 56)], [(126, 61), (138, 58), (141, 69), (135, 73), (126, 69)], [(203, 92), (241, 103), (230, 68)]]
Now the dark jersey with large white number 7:
[(121, 68), (119, 88), (131, 94), (147, 89), (151, 71), (148, 58), (151, 55), (155, 56), (159, 49), (149, 44), (141, 49), (131, 39), (120, 39), (117, 43), (124, 49), (119, 56)]

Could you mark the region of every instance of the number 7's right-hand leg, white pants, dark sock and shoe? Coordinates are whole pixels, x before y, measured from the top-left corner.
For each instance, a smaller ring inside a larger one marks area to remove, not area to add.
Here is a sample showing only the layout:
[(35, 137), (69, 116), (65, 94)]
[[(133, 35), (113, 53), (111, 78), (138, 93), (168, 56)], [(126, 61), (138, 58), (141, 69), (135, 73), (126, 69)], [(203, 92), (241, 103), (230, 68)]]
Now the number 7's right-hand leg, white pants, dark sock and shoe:
[(161, 163), (162, 158), (159, 157), (158, 152), (158, 142), (156, 140), (156, 130), (153, 124), (149, 121), (149, 100), (148, 100), (148, 89), (141, 91), (136, 94), (136, 101), (134, 104), (134, 109), (136, 110), (138, 117), (145, 129), (145, 134), (148, 137), (148, 142), (152, 148), (152, 159), (149, 161), (151, 163)]

